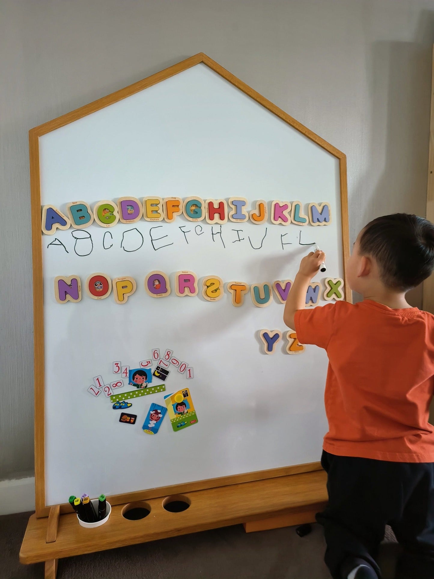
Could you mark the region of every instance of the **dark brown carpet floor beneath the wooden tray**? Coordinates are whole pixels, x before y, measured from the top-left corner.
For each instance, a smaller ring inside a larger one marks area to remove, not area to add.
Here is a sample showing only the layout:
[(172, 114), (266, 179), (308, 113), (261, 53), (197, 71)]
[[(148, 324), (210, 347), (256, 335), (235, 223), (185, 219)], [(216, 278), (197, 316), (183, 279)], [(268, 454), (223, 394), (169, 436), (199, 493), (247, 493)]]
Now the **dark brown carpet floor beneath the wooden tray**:
[[(21, 565), (31, 513), (0, 516), (0, 577), (42, 579), (43, 564)], [(393, 579), (396, 544), (382, 545), (384, 579)], [(300, 538), (295, 527), (245, 533), (242, 525), (60, 559), (57, 579), (330, 579), (322, 529)]]

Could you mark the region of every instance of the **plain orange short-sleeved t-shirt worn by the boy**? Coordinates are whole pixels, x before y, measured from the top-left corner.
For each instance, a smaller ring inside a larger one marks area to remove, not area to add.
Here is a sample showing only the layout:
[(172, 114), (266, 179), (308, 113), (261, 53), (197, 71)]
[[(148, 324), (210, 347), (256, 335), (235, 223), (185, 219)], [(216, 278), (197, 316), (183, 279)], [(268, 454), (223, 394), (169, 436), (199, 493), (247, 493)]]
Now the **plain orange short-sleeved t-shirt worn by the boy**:
[(295, 314), (301, 344), (329, 357), (323, 449), (333, 455), (434, 462), (428, 423), (434, 387), (434, 316), (365, 300)]

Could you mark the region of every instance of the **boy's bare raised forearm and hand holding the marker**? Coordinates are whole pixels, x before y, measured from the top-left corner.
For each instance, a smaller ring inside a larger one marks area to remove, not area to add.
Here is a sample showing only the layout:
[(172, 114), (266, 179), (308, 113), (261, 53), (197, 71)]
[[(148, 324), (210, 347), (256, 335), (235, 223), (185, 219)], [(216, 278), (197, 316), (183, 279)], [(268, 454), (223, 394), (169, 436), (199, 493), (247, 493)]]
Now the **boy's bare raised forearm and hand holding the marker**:
[(306, 307), (307, 288), (324, 259), (325, 253), (318, 250), (315, 253), (310, 252), (301, 260), (299, 273), (295, 276), (285, 303), (284, 322), (291, 329), (295, 329), (294, 316), (297, 310), (304, 310)]

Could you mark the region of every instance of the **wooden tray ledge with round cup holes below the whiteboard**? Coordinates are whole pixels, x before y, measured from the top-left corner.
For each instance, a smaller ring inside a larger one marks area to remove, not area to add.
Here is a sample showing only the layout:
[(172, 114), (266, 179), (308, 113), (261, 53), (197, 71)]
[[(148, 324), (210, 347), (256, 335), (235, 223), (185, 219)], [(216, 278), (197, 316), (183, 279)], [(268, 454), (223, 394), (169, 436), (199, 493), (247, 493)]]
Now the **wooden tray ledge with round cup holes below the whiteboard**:
[[(46, 577), (56, 577), (56, 559), (125, 547), (135, 543), (154, 541), (165, 537), (215, 529), (249, 521), (264, 519), (264, 525), (256, 525), (251, 530), (271, 528), (267, 521), (276, 521), (283, 526), (297, 524), (300, 512), (313, 512), (323, 507), (327, 500), (326, 473), (324, 471), (304, 472), (245, 482), (214, 489), (198, 490), (183, 495), (172, 496), (170, 500), (184, 500), (190, 503), (183, 512), (168, 512), (163, 504), (168, 497), (138, 501), (137, 503), (114, 505), (109, 521), (97, 529), (84, 529), (78, 524), (75, 513), (58, 516), (50, 524), (50, 541), (47, 543), (49, 518), (32, 515), (28, 522), (20, 550), (21, 563), (45, 561)], [(108, 499), (109, 500), (109, 499)], [(130, 508), (145, 506), (149, 515), (138, 521), (130, 521), (123, 516)], [(58, 509), (56, 510), (58, 514)], [(296, 518), (291, 518), (295, 513)], [(288, 515), (288, 519), (285, 516)], [(310, 515), (311, 516), (311, 515)], [(283, 521), (283, 522), (282, 522)], [(294, 523), (293, 521), (296, 521)], [(248, 530), (248, 529), (247, 529)], [(49, 565), (49, 569), (47, 569)], [(47, 574), (48, 572), (48, 574)]]

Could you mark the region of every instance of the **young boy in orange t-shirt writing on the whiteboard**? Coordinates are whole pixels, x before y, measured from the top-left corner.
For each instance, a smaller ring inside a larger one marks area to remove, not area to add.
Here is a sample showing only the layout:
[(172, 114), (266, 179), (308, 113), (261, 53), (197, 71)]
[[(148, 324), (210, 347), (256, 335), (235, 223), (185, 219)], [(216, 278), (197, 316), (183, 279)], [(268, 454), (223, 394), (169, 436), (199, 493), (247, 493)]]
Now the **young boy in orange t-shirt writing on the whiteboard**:
[(301, 260), (284, 321), (329, 357), (321, 459), (329, 503), (317, 515), (326, 565), (334, 579), (380, 578), (374, 559), (389, 524), (403, 547), (396, 577), (433, 579), (434, 316), (405, 294), (432, 273), (434, 225), (407, 214), (374, 219), (346, 270), (363, 301), (305, 310), (324, 258), (316, 251)]

